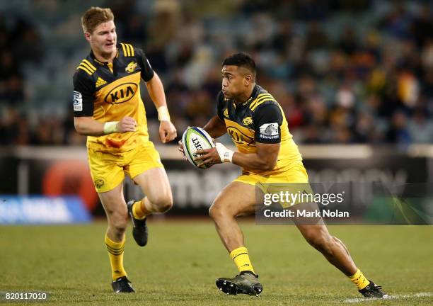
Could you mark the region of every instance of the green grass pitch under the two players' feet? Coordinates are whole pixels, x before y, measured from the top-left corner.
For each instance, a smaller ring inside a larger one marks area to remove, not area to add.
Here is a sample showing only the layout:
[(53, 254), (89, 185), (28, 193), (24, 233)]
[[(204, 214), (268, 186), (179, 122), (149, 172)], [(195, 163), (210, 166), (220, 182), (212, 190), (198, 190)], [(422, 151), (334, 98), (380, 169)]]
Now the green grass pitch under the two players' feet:
[[(137, 294), (110, 287), (105, 223), (0, 227), (1, 292), (50, 293), (28, 305), (356, 305), (345, 276), (308, 246), (296, 227), (243, 222), (246, 245), (264, 286), (260, 297), (224, 295), (214, 280), (236, 268), (211, 222), (149, 222), (148, 246), (127, 230), (125, 268)], [(391, 295), (433, 293), (433, 227), (333, 226), (364, 274)], [(1, 302), (0, 302), (1, 303)], [(433, 297), (399, 297), (361, 305), (432, 305)], [(13, 305), (17, 305), (14, 303)]]

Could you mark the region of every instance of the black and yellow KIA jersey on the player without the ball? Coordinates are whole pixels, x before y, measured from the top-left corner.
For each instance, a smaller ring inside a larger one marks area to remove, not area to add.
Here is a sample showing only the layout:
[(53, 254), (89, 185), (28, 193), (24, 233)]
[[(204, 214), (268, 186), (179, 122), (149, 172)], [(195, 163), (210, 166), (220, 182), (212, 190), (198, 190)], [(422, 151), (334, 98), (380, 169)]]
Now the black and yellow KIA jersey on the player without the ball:
[(93, 116), (100, 122), (125, 116), (137, 121), (135, 132), (88, 136), (87, 147), (96, 152), (126, 152), (149, 141), (146, 111), (140, 96), (140, 81), (150, 81), (154, 70), (140, 49), (117, 45), (112, 63), (100, 62), (91, 52), (74, 74), (74, 116)]

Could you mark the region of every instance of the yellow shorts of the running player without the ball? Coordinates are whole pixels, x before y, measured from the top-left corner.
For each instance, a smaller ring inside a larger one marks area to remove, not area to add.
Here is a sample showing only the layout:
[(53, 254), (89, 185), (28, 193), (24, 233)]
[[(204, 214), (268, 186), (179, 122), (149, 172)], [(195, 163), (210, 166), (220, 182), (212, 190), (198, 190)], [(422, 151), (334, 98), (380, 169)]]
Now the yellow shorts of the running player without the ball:
[(136, 147), (128, 152), (105, 153), (88, 149), (88, 164), (96, 192), (112, 190), (125, 179), (125, 172), (131, 178), (151, 168), (162, 168), (163, 164), (153, 142)]

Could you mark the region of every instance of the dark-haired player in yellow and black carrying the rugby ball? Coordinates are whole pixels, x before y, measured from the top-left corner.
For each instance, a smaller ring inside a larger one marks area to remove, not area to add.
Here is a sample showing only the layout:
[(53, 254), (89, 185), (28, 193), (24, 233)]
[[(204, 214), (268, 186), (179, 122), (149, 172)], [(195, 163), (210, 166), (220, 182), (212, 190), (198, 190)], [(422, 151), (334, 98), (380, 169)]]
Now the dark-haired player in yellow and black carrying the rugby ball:
[[(287, 128), (282, 108), (271, 94), (255, 84), (255, 74), (255, 62), (246, 53), (226, 57), (217, 115), (209, 120), (204, 130), (213, 138), (228, 132), (238, 152), (217, 142), (212, 149), (197, 151), (201, 156), (196, 158), (202, 161), (198, 166), (231, 162), (243, 168), (242, 175), (219, 193), (209, 209), (219, 237), (240, 272), (234, 278), (217, 279), (217, 287), (233, 295), (262, 292), (236, 222), (237, 216), (255, 212), (255, 184), (308, 184), (301, 154)], [(182, 147), (180, 151), (183, 152)], [(323, 222), (308, 225), (294, 221), (306, 241), (349, 277), (360, 293), (366, 297), (387, 296), (380, 286), (364, 277), (346, 246), (329, 234)]]

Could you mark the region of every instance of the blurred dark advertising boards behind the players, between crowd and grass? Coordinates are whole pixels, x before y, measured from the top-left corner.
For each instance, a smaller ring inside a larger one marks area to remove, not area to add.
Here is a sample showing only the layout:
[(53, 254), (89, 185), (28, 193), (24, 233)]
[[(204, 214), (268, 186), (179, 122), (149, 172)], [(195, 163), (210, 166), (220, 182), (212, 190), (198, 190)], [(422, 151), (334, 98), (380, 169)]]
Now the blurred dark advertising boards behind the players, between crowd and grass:
[[(389, 147), (369, 145), (304, 145), (300, 149), (311, 183), (376, 182), (389, 186), (433, 184), (433, 146), (412, 145), (406, 153)], [(213, 166), (206, 170), (195, 169), (180, 157), (176, 147), (158, 146), (158, 151), (173, 190), (174, 207), (166, 214), (168, 216), (207, 215), (207, 210), (219, 191), (240, 174), (240, 169), (232, 164)], [(91, 215), (104, 215), (88, 170), (86, 149), (83, 147), (5, 149), (1, 154), (0, 171), (3, 174), (1, 193), (20, 198), (29, 195), (42, 195), (45, 198), (78, 196), (83, 208)], [(425, 197), (427, 194), (429, 193), (424, 192), (415, 196)], [(127, 179), (125, 198), (130, 200), (142, 196), (140, 189)], [(423, 210), (429, 210), (432, 198), (425, 200)], [(40, 205), (41, 208), (34, 210), (47, 210), (47, 205), (51, 204)], [(4, 206), (0, 210), (0, 223), (19, 221), (21, 213), (21, 210), (11, 210), (11, 206)], [(54, 214), (52, 222), (59, 221), (54, 211), (48, 210), (47, 213)], [(64, 212), (59, 210), (57, 213)], [(433, 215), (433, 210), (429, 213)]]

